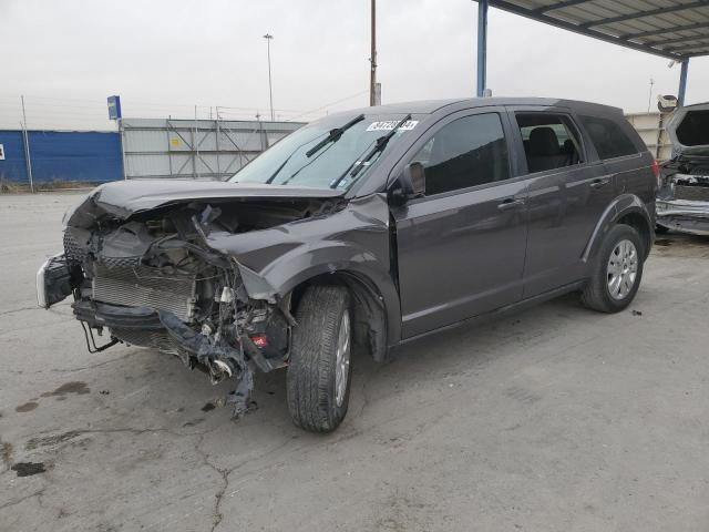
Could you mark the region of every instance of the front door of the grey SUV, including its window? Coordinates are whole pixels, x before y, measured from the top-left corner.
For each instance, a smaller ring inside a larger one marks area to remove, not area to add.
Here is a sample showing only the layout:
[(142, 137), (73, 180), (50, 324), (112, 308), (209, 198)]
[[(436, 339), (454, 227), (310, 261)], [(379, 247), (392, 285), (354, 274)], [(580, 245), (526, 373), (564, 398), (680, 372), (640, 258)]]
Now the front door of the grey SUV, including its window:
[(404, 338), (522, 297), (526, 183), (511, 177), (503, 120), (456, 113), (413, 146), (425, 196), (392, 208)]

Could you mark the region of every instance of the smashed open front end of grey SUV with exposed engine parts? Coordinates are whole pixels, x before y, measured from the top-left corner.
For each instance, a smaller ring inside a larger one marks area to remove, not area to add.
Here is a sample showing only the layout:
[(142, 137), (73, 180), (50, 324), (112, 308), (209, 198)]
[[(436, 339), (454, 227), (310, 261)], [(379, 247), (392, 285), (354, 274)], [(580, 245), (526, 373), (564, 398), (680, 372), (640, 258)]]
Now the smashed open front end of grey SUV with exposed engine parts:
[[(250, 405), (254, 370), (288, 361), (296, 325), (291, 295), (249, 297), (238, 263), (208, 238), (322, 215), (337, 205), (322, 198), (197, 201), (127, 217), (83, 208), (65, 228), (64, 254), (45, 263), (42, 279), (38, 274), (40, 305), (73, 295), (90, 351), (125, 342), (176, 355), (213, 383), (235, 377), (229, 401), (239, 417)], [(95, 337), (106, 329), (110, 339), (99, 346)]]

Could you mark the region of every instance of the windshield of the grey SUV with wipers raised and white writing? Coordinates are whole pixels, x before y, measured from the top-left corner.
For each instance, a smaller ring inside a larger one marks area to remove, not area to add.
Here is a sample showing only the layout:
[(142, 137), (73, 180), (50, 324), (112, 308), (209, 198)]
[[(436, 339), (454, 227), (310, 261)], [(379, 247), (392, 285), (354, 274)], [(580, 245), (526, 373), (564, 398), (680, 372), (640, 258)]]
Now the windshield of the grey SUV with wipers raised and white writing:
[[(363, 120), (349, 124), (340, 134), (332, 135), (332, 130), (341, 129), (357, 117), (354, 113), (340, 114), (308, 124), (269, 147), (229, 181), (348, 190), (366, 174), (362, 171), (351, 176), (352, 168), (361, 164), (362, 157), (372, 150), (377, 140), (390, 133), (404, 115), (366, 115)], [(374, 166), (382, 154), (418, 123), (417, 116), (404, 122), (384, 147), (364, 163), (362, 170)]]

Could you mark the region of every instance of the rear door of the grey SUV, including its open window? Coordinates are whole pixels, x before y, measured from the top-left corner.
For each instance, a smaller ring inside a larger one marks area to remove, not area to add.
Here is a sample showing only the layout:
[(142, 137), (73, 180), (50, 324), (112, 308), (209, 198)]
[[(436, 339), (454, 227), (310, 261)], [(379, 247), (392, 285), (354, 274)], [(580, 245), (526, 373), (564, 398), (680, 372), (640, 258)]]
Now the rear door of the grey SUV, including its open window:
[(528, 176), (524, 298), (586, 275), (582, 256), (615, 198), (612, 176), (566, 108), (512, 108)]

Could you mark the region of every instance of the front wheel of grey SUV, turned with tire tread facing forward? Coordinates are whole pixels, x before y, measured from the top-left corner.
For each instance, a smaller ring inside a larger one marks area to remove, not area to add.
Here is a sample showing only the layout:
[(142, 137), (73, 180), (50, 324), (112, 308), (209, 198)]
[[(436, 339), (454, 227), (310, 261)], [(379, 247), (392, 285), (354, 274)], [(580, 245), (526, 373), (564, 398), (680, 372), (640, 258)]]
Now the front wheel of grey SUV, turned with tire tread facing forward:
[(331, 432), (347, 413), (352, 379), (352, 315), (347, 288), (307, 288), (296, 320), (286, 378), (288, 410), (296, 426), (310, 432)]

